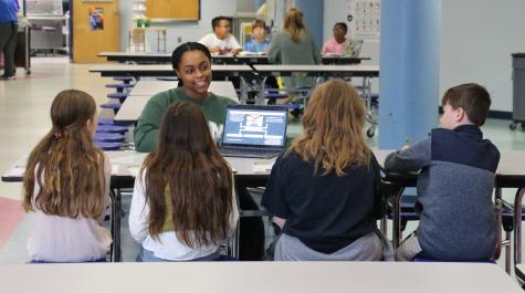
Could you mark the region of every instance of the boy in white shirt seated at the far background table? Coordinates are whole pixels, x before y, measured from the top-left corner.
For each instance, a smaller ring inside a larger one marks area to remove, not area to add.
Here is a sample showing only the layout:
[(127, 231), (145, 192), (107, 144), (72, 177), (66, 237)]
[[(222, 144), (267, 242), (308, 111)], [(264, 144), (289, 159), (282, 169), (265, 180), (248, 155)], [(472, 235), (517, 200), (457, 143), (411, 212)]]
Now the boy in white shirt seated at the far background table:
[(237, 54), (242, 51), (235, 36), (231, 34), (230, 20), (225, 17), (217, 17), (211, 20), (212, 33), (204, 35), (199, 43), (206, 45), (211, 53)]

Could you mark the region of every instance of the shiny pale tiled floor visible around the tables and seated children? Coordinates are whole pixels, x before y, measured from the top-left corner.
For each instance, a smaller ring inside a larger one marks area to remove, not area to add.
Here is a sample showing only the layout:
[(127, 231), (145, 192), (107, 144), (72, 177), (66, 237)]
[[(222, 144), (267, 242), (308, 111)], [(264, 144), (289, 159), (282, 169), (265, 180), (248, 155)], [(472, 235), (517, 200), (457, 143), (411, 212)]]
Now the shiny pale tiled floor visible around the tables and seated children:
[[(98, 104), (105, 103), (104, 84), (109, 79), (87, 72), (91, 65), (67, 64), (63, 60), (33, 60), (32, 74), (22, 71), (13, 81), (0, 81), (0, 172), (7, 170), (17, 158), (27, 154), (50, 127), (49, 109), (51, 101), (65, 88), (77, 88), (92, 94)], [(107, 115), (107, 113), (103, 113)], [(511, 132), (508, 121), (489, 119), (483, 127), (485, 136), (501, 150), (525, 150), (525, 133)], [(298, 125), (290, 127), (293, 133), (301, 132)], [(375, 138), (368, 139), (375, 147)], [(505, 198), (512, 199), (514, 190), (506, 190)], [(21, 199), (21, 185), (0, 182), (0, 197)], [(28, 261), (25, 241), (31, 227), (31, 216), (25, 217), (3, 247), (0, 247), (0, 264), (23, 263)], [(414, 224), (409, 226), (409, 230)], [(137, 245), (129, 239), (126, 220), (123, 221), (123, 257), (133, 261)]]

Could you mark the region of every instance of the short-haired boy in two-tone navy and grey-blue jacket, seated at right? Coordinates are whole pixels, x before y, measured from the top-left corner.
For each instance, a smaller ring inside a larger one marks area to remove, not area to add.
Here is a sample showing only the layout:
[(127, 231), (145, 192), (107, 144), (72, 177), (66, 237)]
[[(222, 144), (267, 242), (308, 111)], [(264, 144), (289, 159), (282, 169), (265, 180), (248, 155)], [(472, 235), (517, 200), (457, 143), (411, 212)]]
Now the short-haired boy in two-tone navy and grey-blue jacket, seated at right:
[(449, 88), (442, 98), (441, 127), (428, 138), (390, 154), (385, 168), (419, 171), (418, 230), (396, 251), (396, 259), (416, 255), (445, 260), (490, 259), (496, 248), (492, 192), (500, 151), (483, 139), (491, 97), (477, 84)]

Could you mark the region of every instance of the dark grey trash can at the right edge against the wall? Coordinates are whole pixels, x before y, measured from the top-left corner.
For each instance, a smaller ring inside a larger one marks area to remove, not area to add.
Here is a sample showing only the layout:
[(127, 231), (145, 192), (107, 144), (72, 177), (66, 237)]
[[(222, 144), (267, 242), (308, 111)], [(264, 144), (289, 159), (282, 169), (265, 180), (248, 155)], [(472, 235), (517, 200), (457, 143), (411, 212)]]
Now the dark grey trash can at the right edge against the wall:
[(525, 128), (525, 53), (512, 54), (512, 124), (511, 129), (516, 129), (518, 123)]

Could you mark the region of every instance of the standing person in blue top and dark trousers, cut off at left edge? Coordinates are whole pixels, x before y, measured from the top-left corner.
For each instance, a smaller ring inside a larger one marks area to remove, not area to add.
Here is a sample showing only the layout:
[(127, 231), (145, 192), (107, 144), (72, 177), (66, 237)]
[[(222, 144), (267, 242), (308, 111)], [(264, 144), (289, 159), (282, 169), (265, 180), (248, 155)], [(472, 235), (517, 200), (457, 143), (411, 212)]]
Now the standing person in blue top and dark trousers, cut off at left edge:
[(13, 0), (0, 0), (0, 50), (3, 53), (2, 80), (14, 77), (14, 48), (17, 46), (19, 6)]

